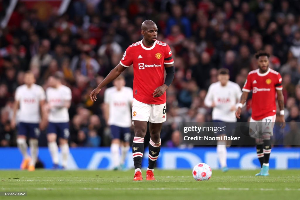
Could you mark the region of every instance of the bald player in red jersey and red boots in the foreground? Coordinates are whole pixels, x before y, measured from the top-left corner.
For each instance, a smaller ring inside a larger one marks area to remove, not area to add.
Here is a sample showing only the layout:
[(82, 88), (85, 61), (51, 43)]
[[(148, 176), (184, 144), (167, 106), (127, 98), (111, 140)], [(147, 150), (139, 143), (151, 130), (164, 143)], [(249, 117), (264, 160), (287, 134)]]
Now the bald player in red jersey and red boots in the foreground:
[[(155, 180), (153, 169), (161, 149), (160, 133), (162, 123), (167, 119), (166, 89), (174, 78), (174, 61), (172, 51), (166, 43), (156, 40), (158, 28), (151, 20), (142, 24), (143, 40), (130, 45), (120, 63), (90, 94), (96, 101), (101, 88), (117, 78), (126, 68), (133, 64), (133, 104), (132, 119), (134, 121), (134, 140), (132, 155), (134, 160), (134, 181), (142, 181), (141, 163), (144, 152), (144, 137), (149, 121), (149, 165), (146, 180)], [(166, 78), (164, 72), (166, 70)]]

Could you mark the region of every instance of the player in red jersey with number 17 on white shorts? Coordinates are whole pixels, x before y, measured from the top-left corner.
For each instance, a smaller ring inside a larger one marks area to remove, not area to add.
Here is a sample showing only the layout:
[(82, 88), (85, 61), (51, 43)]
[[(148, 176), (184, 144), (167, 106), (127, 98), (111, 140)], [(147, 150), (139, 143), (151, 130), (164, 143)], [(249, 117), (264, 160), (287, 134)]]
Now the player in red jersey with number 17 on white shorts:
[(242, 89), (243, 93), (238, 110), (235, 113), (235, 116), (240, 119), (241, 107), (252, 90), (252, 115), (249, 134), (256, 140), (256, 152), (261, 165), (261, 171), (256, 176), (269, 175), (271, 136), (276, 118), (276, 93), (280, 108), (280, 122), (282, 128), (285, 127), (282, 78), (278, 72), (269, 68), (269, 56), (265, 51), (258, 51), (255, 54), (259, 69), (249, 72)]

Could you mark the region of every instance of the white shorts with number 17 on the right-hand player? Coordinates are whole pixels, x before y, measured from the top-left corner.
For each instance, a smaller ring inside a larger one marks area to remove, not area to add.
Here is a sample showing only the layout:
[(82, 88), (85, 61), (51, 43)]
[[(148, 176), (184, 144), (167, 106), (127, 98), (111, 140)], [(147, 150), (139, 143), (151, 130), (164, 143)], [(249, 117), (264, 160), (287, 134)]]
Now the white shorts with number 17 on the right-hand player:
[(276, 115), (265, 117), (261, 120), (250, 119), (249, 135), (253, 138), (263, 138), (263, 135), (273, 136)]

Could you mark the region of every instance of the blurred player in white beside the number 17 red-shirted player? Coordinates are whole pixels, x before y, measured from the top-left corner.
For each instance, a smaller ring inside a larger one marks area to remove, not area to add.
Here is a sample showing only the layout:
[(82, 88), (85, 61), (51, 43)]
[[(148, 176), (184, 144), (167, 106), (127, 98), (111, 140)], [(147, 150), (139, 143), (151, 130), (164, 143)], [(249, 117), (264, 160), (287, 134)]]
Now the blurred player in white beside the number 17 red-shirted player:
[[(204, 104), (207, 107), (213, 108), (212, 120), (213, 122), (216, 122), (216, 125), (218, 122), (230, 122), (226, 123), (226, 130), (228, 130), (226, 134), (228, 135), (231, 135), (232, 130), (235, 128), (235, 110), (237, 109), (237, 103), (241, 97), (241, 94), (242, 92), (239, 85), (229, 81), (229, 70), (221, 68), (218, 70), (218, 82), (209, 86), (204, 100)], [(226, 134), (218, 133), (219, 136), (222, 135), (223, 137)], [(217, 154), (222, 171), (228, 171), (226, 163), (227, 151), (225, 141), (217, 141)]]

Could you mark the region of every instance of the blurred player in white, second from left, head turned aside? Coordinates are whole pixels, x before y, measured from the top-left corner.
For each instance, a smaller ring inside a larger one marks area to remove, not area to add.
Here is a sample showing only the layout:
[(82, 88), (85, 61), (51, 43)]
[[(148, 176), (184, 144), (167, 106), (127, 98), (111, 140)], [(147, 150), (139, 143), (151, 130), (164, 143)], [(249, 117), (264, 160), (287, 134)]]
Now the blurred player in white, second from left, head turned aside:
[(62, 75), (57, 72), (48, 79), (49, 87), (46, 90), (47, 110), (48, 110), (48, 148), (52, 157), (53, 169), (58, 169), (58, 146), (56, 143), (59, 138), (59, 146), (62, 154), (62, 168), (67, 167), (69, 155), (68, 139), (69, 131), (69, 113), (72, 93), (69, 87), (61, 84)]

